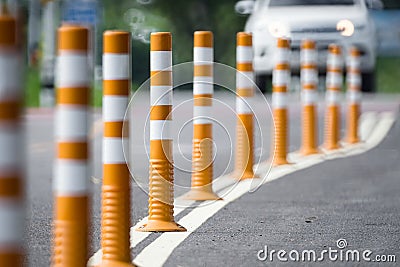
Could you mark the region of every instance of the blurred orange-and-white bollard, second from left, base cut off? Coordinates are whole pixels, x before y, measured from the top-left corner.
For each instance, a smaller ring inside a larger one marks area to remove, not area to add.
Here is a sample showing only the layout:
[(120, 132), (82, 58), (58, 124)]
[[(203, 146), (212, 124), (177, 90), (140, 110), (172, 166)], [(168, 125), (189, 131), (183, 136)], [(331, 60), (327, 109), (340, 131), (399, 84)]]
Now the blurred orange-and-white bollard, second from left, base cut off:
[(58, 30), (52, 266), (86, 266), (88, 244), (88, 30)]

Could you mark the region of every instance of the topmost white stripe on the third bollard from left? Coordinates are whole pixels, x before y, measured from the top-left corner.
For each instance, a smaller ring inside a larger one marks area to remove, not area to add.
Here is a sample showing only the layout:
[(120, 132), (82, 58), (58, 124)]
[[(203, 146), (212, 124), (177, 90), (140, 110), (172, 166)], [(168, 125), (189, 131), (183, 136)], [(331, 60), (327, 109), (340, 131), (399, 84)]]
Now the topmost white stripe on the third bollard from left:
[(103, 80), (127, 80), (130, 78), (128, 54), (103, 55)]

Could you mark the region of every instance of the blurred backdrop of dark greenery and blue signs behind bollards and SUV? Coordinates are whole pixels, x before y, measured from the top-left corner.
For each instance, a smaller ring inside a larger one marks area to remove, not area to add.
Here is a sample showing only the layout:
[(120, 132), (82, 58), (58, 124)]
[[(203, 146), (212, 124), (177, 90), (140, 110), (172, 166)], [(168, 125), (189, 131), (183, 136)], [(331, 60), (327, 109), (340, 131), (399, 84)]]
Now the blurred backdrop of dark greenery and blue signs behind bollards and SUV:
[[(363, 1), (363, 0), (360, 0)], [(373, 1), (373, 0), (365, 0)], [(235, 65), (235, 36), (248, 19), (235, 12), (235, 0), (8, 0), (19, 2), (25, 18), (29, 61), (26, 105), (51, 105), (56, 29), (62, 22), (86, 24), (93, 34), (93, 105), (101, 105), (102, 32), (132, 33), (133, 90), (149, 77), (149, 35), (173, 34), (174, 64), (192, 60), (193, 32), (214, 32), (215, 61)], [(372, 6), (372, 4), (370, 3)], [(237, 10), (236, 10), (237, 11)], [(400, 1), (383, 0), (369, 9), (376, 27), (377, 92), (400, 92)]]

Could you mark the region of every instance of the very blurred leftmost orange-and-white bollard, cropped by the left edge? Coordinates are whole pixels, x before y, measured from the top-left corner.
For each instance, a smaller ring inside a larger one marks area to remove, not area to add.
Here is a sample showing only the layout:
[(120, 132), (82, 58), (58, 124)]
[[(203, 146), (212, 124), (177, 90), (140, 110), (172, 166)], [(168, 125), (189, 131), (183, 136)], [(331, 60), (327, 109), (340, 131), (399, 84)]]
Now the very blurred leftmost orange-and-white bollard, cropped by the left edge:
[(16, 20), (0, 15), (0, 266), (24, 262), (24, 165), (21, 129), (22, 51)]

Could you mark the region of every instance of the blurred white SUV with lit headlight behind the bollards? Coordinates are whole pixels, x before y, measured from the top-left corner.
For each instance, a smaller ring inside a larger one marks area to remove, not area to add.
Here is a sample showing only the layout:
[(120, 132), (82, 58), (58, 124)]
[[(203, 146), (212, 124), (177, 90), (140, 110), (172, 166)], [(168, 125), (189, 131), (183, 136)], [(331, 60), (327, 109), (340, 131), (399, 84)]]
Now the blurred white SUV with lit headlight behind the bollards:
[(376, 36), (367, 4), (382, 6), (379, 0), (256, 0), (239, 1), (236, 12), (250, 14), (245, 31), (253, 33), (256, 82), (264, 89), (270, 80), (276, 52), (276, 38), (291, 39), (292, 72), (299, 71), (300, 43), (313, 39), (318, 48), (318, 67), (326, 68), (330, 43), (342, 45), (344, 53), (354, 45), (361, 51), (363, 90), (375, 90)]

